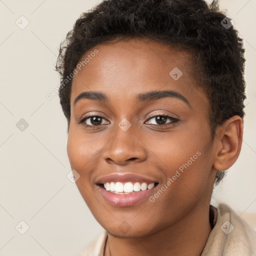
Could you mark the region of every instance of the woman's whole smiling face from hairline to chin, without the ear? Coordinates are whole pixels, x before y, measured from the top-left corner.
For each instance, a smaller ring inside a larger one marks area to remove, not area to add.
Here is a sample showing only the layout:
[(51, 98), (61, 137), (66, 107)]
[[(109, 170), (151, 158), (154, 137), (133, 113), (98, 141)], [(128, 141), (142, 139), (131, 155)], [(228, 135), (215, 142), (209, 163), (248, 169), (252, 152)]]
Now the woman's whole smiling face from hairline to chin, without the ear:
[(138, 39), (95, 48), (72, 81), (68, 158), (103, 228), (145, 236), (209, 203), (209, 102), (185, 51)]

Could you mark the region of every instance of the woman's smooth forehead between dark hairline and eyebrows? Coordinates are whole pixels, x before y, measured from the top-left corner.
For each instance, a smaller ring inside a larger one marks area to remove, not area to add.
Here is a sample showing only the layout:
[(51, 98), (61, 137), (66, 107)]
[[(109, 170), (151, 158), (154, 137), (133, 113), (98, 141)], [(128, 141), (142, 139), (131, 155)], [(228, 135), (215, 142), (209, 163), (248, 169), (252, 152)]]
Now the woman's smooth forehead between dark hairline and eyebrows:
[[(95, 49), (98, 53), (91, 54)], [(88, 62), (73, 77), (71, 104), (79, 93), (88, 90), (104, 91), (111, 100), (152, 89), (172, 89), (187, 95), (199, 89), (192, 75), (191, 55), (163, 43), (129, 39), (99, 44), (81, 61), (86, 57)]]

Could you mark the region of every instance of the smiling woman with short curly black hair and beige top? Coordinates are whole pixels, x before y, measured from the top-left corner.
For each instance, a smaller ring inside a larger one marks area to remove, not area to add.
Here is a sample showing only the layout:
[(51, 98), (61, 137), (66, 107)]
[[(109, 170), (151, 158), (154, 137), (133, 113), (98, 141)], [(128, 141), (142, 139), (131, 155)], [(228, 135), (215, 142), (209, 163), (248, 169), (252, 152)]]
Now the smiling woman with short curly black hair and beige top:
[(243, 133), (244, 49), (214, 1), (104, 0), (56, 69), (76, 185), (105, 229), (84, 255), (254, 255), (256, 234), (210, 205)]

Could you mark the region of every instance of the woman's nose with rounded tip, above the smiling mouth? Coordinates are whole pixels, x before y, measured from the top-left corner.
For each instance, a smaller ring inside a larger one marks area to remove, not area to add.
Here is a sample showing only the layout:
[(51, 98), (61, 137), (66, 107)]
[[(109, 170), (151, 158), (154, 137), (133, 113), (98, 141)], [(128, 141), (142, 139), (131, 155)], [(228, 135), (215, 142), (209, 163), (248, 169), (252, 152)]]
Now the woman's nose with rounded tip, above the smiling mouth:
[(146, 146), (131, 127), (123, 131), (117, 126), (115, 134), (106, 143), (103, 158), (112, 164), (127, 165), (130, 161), (146, 159)]

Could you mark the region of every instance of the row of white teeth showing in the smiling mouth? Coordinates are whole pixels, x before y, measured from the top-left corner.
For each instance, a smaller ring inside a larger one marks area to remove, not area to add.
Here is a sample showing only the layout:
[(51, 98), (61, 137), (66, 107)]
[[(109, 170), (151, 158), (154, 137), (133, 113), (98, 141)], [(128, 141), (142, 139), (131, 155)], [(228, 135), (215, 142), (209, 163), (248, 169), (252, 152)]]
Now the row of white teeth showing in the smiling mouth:
[(142, 182), (142, 183), (135, 182), (134, 184), (132, 184), (132, 182), (121, 183), (119, 181), (104, 183), (104, 188), (107, 191), (111, 191), (116, 194), (118, 193), (127, 194), (131, 192), (138, 192), (140, 190), (144, 191), (146, 189), (150, 189), (153, 187), (154, 187), (154, 183), (147, 184), (145, 182)]

